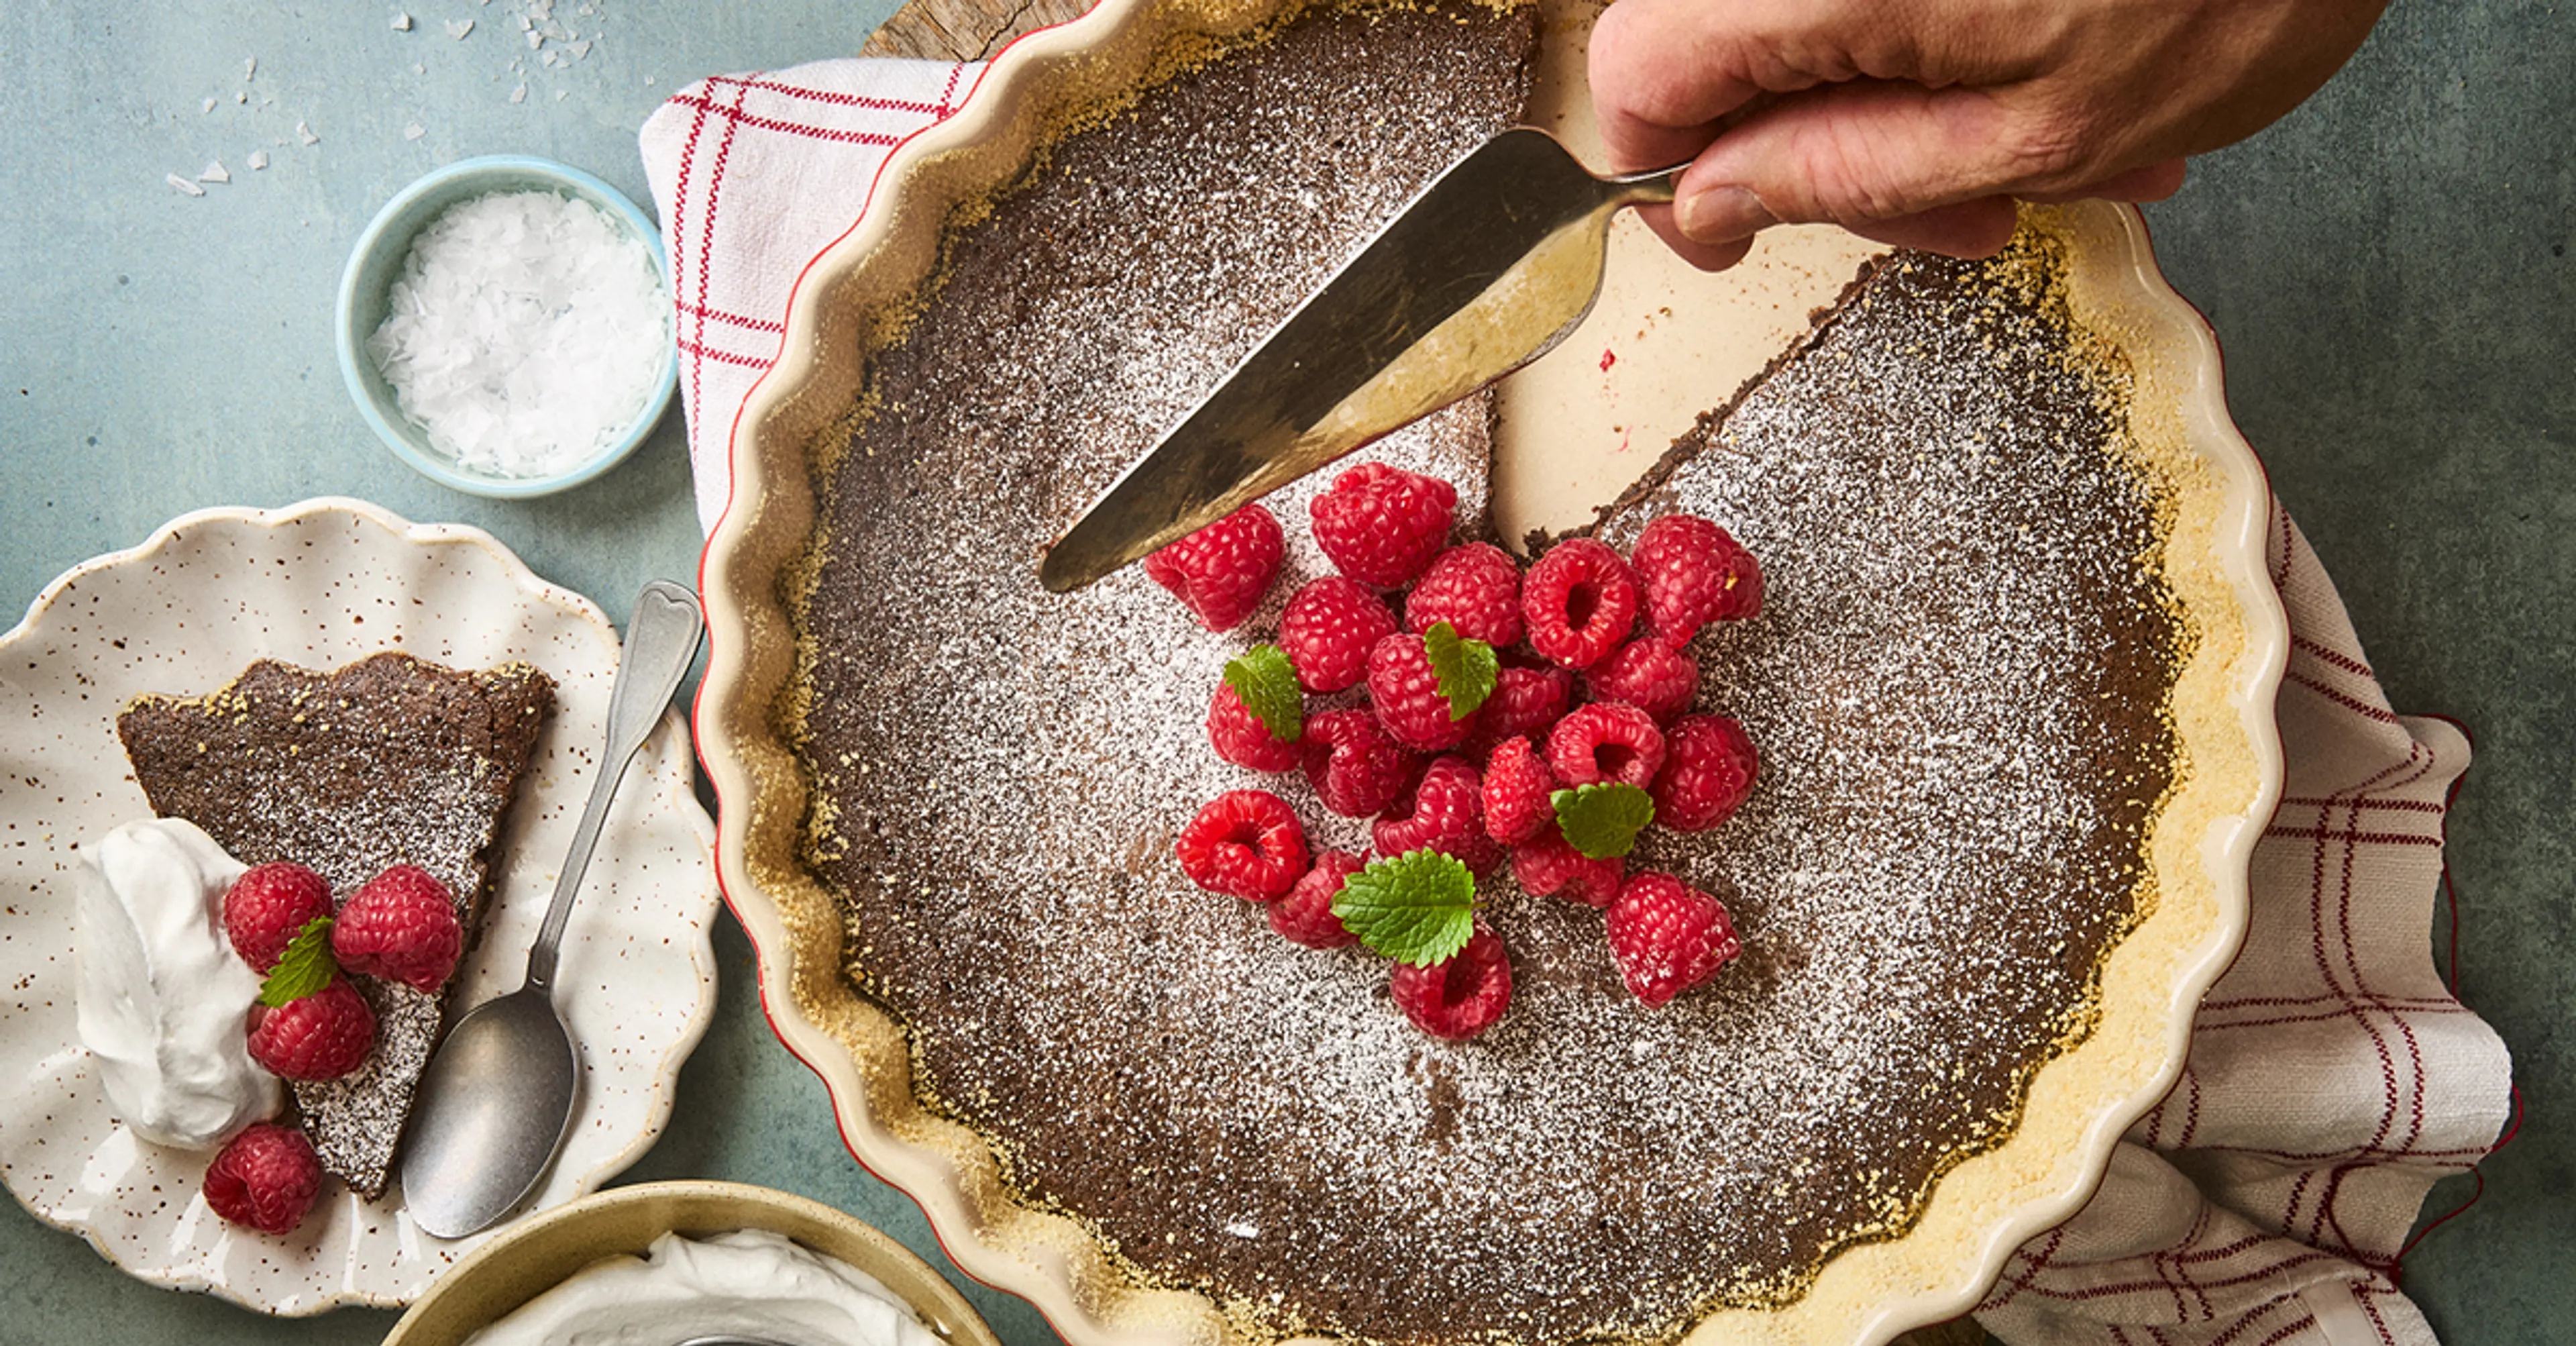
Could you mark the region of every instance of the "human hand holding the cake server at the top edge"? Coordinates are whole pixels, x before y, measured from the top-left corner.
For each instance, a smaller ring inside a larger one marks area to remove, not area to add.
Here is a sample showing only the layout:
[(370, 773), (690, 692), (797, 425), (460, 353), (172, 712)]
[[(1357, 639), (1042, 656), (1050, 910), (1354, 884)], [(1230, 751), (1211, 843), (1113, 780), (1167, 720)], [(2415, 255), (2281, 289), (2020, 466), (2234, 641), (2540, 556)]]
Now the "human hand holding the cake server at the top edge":
[(1646, 222), (1703, 268), (1834, 222), (1960, 258), (2014, 199), (2161, 201), (2295, 108), (2385, 0), (1618, 0), (1592, 28), (1615, 170), (1690, 160)]

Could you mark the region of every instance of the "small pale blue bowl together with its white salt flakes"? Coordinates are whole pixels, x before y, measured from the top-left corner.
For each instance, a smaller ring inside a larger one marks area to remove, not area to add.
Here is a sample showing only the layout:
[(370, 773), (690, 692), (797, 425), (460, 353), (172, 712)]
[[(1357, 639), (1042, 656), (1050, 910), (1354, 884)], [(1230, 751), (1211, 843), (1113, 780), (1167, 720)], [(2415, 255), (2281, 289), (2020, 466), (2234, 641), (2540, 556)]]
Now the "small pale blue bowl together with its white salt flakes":
[(526, 155), (386, 201), (340, 273), (337, 343), (376, 438), (492, 498), (608, 472), (680, 382), (662, 232), (618, 188)]

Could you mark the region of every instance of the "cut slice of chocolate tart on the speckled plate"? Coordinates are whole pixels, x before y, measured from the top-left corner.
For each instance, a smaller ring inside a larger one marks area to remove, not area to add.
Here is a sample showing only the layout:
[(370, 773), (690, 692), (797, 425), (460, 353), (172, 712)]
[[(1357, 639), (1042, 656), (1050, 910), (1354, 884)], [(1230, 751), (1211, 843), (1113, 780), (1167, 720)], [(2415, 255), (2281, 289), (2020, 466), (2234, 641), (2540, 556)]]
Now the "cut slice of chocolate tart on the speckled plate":
[[(137, 696), (116, 737), (152, 812), (196, 823), (245, 864), (312, 866), (340, 900), (417, 864), (456, 895), (471, 941), (551, 709), (554, 681), (523, 663), (464, 673), (384, 652), (312, 673), (260, 660), (206, 696)], [(294, 1096), (322, 1168), (376, 1196), (448, 988), (350, 980), (376, 1011), (376, 1052), (337, 1080), (296, 1080)]]

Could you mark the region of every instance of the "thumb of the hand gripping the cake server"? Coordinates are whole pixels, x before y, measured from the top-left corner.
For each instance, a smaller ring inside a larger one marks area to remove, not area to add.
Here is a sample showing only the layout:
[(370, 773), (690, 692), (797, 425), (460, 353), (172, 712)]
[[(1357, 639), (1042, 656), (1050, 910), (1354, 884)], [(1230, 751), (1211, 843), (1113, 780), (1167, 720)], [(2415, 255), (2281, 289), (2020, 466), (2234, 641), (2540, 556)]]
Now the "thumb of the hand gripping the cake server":
[(2074, 137), (2035, 134), (1994, 90), (1852, 80), (1772, 103), (1710, 142), (1677, 183), (1674, 222), (1700, 242), (1775, 222), (1878, 235), (1914, 217), (2002, 217), (2009, 232), (2002, 193), (2056, 183), (2076, 160)]

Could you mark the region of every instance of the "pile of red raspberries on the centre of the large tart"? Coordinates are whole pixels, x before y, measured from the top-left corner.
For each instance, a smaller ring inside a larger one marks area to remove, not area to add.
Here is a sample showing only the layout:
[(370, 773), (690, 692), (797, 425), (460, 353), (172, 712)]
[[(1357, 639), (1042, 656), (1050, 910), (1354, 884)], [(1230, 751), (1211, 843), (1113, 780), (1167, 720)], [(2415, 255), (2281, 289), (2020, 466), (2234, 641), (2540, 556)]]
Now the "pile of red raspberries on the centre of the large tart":
[[(1435, 848), (1479, 879), (1510, 859), (1528, 892), (1602, 908), (1620, 980), (1662, 1006), (1741, 951), (1726, 908), (1672, 874), (1584, 856), (1551, 799), (1625, 781), (1654, 799), (1656, 825), (1685, 833), (1736, 812), (1754, 745), (1734, 719), (1690, 712), (1700, 688), (1690, 639), (1754, 616), (1762, 570), (1726, 529), (1687, 513), (1649, 523), (1628, 557), (1577, 536), (1522, 570), (1484, 541), (1450, 547), (1455, 505), (1450, 482), (1383, 464), (1316, 495), (1314, 539), (1340, 572), (1288, 598), (1278, 647), (1303, 696), (1363, 688), (1365, 701), (1311, 709), (1298, 735), (1280, 737), (1218, 683), (1208, 740), (1252, 771), (1303, 771), (1332, 812), (1376, 817), (1381, 859)], [(1262, 606), (1283, 554), (1278, 518), (1252, 503), (1144, 567), (1203, 627), (1226, 632)], [(1440, 621), (1499, 655), (1492, 694), (1463, 717), (1425, 652)], [(1332, 905), (1368, 856), (1309, 853), (1296, 810), (1267, 789), (1216, 797), (1177, 853), (1198, 887), (1265, 902), (1296, 944), (1358, 941)], [(1391, 993), (1422, 1031), (1468, 1039), (1502, 1016), (1512, 967), (1476, 913), (1466, 949), (1427, 967), (1399, 962)]]

